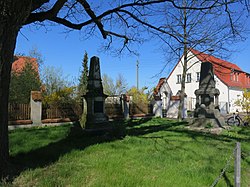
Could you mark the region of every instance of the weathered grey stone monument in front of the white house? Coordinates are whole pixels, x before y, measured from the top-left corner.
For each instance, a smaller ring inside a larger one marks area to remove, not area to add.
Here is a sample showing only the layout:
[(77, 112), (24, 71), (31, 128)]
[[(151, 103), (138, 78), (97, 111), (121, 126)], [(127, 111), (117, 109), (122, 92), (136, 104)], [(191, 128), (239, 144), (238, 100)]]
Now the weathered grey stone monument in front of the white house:
[(195, 90), (194, 124), (196, 126), (210, 123), (214, 127), (222, 127), (225, 124), (219, 111), (219, 94), (220, 91), (215, 88), (213, 65), (210, 62), (203, 62), (199, 89)]

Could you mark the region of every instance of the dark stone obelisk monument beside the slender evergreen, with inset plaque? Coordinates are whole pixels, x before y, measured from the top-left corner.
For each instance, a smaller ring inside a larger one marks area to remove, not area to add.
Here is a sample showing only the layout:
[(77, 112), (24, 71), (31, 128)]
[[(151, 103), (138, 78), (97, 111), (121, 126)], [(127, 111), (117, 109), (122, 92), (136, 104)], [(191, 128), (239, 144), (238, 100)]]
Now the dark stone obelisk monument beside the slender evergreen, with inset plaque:
[(90, 60), (90, 69), (87, 84), (87, 93), (84, 95), (87, 103), (86, 129), (101, 128), (108, 122), (105, 114), (105, 99), (107, 95), (103, 93), (100, 62), (94, 56)]

